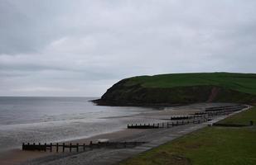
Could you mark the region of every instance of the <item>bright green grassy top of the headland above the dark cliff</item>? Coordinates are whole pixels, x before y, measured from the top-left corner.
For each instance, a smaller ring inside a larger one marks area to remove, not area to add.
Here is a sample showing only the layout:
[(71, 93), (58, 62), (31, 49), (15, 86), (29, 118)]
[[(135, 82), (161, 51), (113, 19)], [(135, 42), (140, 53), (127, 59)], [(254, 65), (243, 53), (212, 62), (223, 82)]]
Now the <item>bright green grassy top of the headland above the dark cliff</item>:
[(128, 78), (127, 85), (142, 87), (187, 87), (213, 85), (256, 95), (256, 74), (252, 73), (176, 73)]

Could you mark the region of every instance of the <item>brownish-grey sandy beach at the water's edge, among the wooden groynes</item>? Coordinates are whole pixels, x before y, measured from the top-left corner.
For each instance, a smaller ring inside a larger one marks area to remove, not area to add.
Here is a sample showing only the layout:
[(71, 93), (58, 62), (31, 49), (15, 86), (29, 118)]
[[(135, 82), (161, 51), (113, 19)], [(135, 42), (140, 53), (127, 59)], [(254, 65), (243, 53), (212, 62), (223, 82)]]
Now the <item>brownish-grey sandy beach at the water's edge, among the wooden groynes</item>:
[[(169, 134), (170, 131), (181, 131), (186, 129), (188, 126), (179, 126), (176, 129), (172, 130), (128, 130), (126, 129), (127, 124), (135, 123), (154, 123), (154, 122), (165, 122), (168, 120), (168, 117), (171, 115), (188, 115), (195, 112), (204, 110), (205, 107), (210, 106), (220, 106), (225, 104), (193, 104), (190, 106), (176, 106), (176, 107), (166, 107), (161, 108), (158, 111), (143, 111), (138, 114), (133, 115), (120, 115), (120, 116), (107, 116), (101, 117), (101, 119), (121, 120), (123, 128), (119, 130), (105, 130), (102, 134), (92, 135), (90, 137), (78, 138), (72, 140), (60, 140), (59, 143), (72, 143), (72, 144), (88, 144), (90, 141), (97, 142), (99, 139), (108, 139), (109, 141), (148, 141), (154, 140), (157, 137), (161, 137), (162, 134)], [(107, 133), (106, 133), (107, 132)], [(51, 158), (67, 158), (70, 154), (76, 153), (56, 153), (56, 152), (27, 152), (22, 151), (20, 148), (9, 150), (4, 154), (1, 154), (0, 163), (1, 164), (44, 164), (47, 159)], [(38, 162), (38, 160), (40, 160)]]

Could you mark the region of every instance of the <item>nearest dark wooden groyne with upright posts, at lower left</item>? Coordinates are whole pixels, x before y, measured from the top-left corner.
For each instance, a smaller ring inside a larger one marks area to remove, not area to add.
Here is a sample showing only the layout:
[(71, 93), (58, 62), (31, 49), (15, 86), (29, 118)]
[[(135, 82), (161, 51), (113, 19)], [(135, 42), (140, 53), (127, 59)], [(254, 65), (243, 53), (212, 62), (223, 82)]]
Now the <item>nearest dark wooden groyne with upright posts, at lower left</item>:
[(86, 150), (91, 150), (94, 148), (133, 148), (141, 144), (145, 144), (146, 142), (98, 142), (93, 143), (90, 142), (89, 144), (41, 144), (41, 143), (23, 143), (22, 150), (31, 150), (31, 151), (56, 151), (64, 153), (65, 151), (76, 151), (76, 152), (84, 152)]

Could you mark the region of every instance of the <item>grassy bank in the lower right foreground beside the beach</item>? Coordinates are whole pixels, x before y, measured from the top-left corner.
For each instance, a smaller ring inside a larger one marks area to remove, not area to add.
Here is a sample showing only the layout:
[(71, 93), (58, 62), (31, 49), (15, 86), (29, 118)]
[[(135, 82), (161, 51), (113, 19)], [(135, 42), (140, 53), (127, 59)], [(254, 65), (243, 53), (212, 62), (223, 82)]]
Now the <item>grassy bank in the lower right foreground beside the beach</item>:
[[(234, 115), (222, 123), (256, 120), (256, 108)], [(207, 127), (158, 148), (123, 161), (120, 165), (254, 165), (256, 127)]]

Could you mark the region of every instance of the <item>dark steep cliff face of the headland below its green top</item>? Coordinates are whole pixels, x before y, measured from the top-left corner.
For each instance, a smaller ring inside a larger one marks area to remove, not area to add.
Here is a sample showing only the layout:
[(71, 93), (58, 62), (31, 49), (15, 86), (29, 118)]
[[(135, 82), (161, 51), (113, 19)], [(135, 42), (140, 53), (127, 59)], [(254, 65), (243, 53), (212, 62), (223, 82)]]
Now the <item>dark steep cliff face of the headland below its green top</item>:
[(144, 87), (140, 82), (123, 79), (97, 101), (109, 106), (167, 106), (196, 102), (256, 102), (255, 95), (216, 85), (183, 87)]

